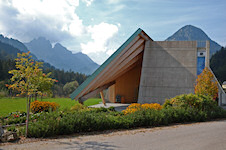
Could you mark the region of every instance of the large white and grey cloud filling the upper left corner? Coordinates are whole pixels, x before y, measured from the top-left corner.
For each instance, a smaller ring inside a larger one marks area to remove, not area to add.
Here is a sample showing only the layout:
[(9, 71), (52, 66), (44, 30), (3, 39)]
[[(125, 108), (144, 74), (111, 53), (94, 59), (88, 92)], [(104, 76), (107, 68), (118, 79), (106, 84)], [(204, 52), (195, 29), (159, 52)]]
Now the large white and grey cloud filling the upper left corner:
[[(22, 41), (45, 36), (59, 42), (85, 32), (83, 21), (75, 13), (78, 6), (79, 0), (1, 1), (0, 27), (6, 35)], [(9, 15), (9, 11), (14, 14)]]

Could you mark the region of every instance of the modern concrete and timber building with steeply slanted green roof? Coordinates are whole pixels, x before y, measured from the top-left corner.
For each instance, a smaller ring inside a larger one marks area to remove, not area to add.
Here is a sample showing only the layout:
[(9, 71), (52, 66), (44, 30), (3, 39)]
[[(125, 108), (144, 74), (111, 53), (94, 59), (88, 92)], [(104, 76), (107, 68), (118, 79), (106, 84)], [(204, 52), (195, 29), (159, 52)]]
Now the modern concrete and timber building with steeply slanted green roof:
[[(209, 41), (153, 41), (138, 29), (112, 54), (71, 98), (83, 102), (107, 90), (107, 101), (160, 103), (179, 94), (194, 93), (204, 67), (209, 67)], [(216, 79), (216, 78), (215, 78)], [(219, 104), (226, 104), (219, 84)]]

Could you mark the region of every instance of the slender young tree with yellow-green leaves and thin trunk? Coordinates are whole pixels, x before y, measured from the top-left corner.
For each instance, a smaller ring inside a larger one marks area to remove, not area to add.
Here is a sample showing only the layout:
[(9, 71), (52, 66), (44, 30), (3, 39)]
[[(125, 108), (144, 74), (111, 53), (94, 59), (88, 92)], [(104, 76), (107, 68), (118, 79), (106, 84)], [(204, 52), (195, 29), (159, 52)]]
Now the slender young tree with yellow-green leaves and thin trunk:
[(9, 89), (18, 92), (18, 96), (27, 97), (26, 136), (28, 135), (31, 99), (37, 94), (41, 95), (48, 91), (56, 81), (48, 77), (50, 74), (43, 73), (41, 69), (43, 63), (31, 59), (29, 53), (17, 54), (16, 69), (9, 71), (9, 74), (12, 75), (10, 79), (12, 84), (6, 85)]

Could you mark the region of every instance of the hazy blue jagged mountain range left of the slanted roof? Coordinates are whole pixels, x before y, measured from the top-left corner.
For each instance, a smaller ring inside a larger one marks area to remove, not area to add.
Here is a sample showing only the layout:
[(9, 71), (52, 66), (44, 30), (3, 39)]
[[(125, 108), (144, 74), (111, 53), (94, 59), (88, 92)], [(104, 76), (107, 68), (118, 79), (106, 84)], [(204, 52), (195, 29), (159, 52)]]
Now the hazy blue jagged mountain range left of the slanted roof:
[(87, 55), (83, 53), (72, 54), (71, 51), (60, 43), (56, 43), (52, 47), (50, 41), (44, 37), (34, 39), (29, 43), (25, 43), (25, 45), (38, 59), (42, 59), (65, 71), (72, 70), (91, 74), (99, 67)]

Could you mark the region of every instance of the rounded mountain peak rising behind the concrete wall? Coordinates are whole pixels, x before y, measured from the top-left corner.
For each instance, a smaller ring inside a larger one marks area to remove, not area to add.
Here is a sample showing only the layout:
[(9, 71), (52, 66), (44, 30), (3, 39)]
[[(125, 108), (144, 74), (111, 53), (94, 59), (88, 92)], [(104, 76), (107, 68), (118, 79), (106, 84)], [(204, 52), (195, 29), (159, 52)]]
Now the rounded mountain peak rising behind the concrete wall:
[(186, 25), (168, 37), (166, 41), (210, 41), (210, 56), (221, 49), (221, 46), (211, 40), (204, 31), (192, 25)]

